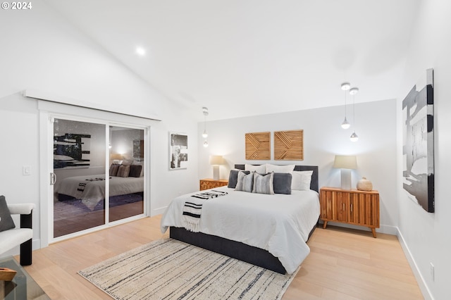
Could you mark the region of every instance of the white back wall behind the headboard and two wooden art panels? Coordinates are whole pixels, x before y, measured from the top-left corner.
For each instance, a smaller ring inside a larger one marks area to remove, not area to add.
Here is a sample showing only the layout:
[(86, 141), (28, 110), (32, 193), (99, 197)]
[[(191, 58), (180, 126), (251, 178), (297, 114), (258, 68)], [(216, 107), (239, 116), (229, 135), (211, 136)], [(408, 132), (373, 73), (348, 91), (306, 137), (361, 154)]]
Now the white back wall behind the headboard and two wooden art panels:
[[(377, 231), (395, 234), (396, 101), (356, 104), (355, 115), (358, 142), (350, 141), (352, 127), (348, 130), (340, 127), (344, 118), (343, 106), (207, 122), (208, 148), (200, 146), (203, 142), (200, 136), (204, 131), (204, 123), (199, 123), (199, 177), (213, 176), (209, 155), (223, 155), (227, 162), (220, 168), (223, 179), (228, 178), (228, 172), (234, 163), (298, 163), (319, 166), (320, 187), (340, 187), (340, 170), (332, 168), (335, 154), (355, 154), (358, 168), (352, 171), (352, 186), (355, 188), (362, 177), (373, 182), (373, 188), (379, 191), (381, 197), (381, 229)], [(245, 160), (245, 133), (271, 132), (272, 147), (274, 131), (301, 129), (304, 130), (304, 161)]]

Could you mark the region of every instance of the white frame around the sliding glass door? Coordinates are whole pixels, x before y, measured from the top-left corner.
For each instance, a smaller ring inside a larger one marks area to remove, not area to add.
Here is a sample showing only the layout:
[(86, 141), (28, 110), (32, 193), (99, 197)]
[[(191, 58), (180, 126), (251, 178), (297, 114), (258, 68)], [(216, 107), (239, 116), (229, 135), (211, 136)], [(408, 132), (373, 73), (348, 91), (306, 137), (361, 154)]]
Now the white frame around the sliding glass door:
[[(49, 180), (51, 177), (51, 173), (54, 171), (54, 157), (53, 157), (53, 135), (54, 135), (54, 120), (55, 119), (62, 119), (62, 120), (73, 120), (78, 122), (86, 122), (86, 123), (95, 123), (100, 125), (105, 125), (105, 174), (109, 174), (109, 162), (110, 162), (110, 149), (109, 149), (109, 143), (110, 143), (110, 135), (109, 130), (111, 126), (114, 127), (124, 127), (124, 128), (130, 128), (130, 129), (136, 129), (136, 130), (144, 130), (144, 192), (143, 192), (143, 212), (139, 215), (133, 215), (128, 218), (123, 218), (121, 220), (116, 220), (113, 222), (109, 222), (109, 176), (105, 177), (105, 206), (104, 206), (104, 218), (105, 223), (104, 225), (100, 225), (97, 227), (92, 227), (87, 230), (82, 230), (80, 232), (74, 232), (69, 235), (63, 235), (61, 237), (54, 237), (54, 186), (50, 185)], [(123, 122), (111, 122), (109, 120), (102, 120), (100, 118), (92, 118), (92, 117), (79, 117), (75, 115), (66, 115), (63, 113), (53, 113), (53, 112), (44, 112), (42, 111), (39, 116), (39, 123), (40, 123), (40, 132), (41, 135), (44, 135), (45, 132), (45, 139), (46, 143), (42, 144), (40, 146), (40, 151), (42, 154), (45, 155), (45, 159), (43, 159), (42, 163), (43, 165), (47, 165), (46, 168), (41, 168), (41, 183), (40, 185), (42, 187), (46, 187), (46, 189), (42, 189), (42, 194), (46, 195), (45, 199), (47, 200), (47, 205), (42, 205), (41, 208), (44, 208), (43, 211), (47, 211), (47, 222), (44, 220), (41, 220), (41, 232), (44, 234), (44, 232), (47, 232), (47, 237), (44, 237), (42, 235), (41, 240), (41, 246), (47, 246), (48, 244), (52, 244), (54, 242), (60, 242), (65, 239), (69, 239), (72, 237), (77, 237), (80, 235), (85, 235), (89, 232), (94, 232), (97, 230), (102, 230), (107, 227), (111, 227), (114, 225), (118, 225), (121, 223), (127, 223), (131, 220), (136, 220), (139, 218), (144, 218), (148, 215), (149, 211), (149, 205), (150, 205), (150, 193), (149, 193), (149, 182), (150, 182), (150, 175), (149, 175), (149, 161), (150, 161), (150, 151), (149, 151), (149, 139), (150, 139), (150, 126), (149, 125), (139, 125), (139, 124), (131, 124), (131, 123), (123, 123)], [(45, 125), (45, 126), (44, 126)], [(47, 208), (46, 208), (47, 206)], [(44, 213), (41, 214), (41, 217), (44, 217)]]

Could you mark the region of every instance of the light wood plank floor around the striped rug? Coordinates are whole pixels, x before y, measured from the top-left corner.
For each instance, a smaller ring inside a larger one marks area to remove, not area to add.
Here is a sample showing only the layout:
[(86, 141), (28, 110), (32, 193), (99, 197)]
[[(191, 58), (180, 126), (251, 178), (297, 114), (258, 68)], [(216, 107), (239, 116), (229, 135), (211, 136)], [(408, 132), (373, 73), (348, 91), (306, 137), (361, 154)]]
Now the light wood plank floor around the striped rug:
[[(51, 299), (111, 299), (77, 275), (154, 239), (161, 216), (143, 218), (33, 251), (25, 267)], [(397, 237), (328, 227), (316, 228), (311, 253), (283, 299), (424, 299)]]

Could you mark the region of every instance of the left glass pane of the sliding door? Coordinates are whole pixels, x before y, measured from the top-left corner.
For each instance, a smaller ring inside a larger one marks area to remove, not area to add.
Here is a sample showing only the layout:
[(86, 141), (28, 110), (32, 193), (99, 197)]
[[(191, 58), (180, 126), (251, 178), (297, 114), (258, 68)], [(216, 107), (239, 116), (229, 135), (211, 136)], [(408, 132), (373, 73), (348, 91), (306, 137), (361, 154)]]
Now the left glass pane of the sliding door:
[(54, 237), (105, 224), (105, 128), (54, 119)]

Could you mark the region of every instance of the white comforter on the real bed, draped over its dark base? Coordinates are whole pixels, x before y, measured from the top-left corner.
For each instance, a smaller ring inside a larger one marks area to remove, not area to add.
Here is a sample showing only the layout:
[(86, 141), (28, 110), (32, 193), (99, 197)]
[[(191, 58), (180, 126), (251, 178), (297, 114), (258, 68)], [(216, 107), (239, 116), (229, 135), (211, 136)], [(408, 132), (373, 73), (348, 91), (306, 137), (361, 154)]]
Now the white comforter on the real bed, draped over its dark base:
[[(199, 231), (265, 249), (279, 259), (287, 273), (295, 272), (310, 253), (306, 241), (319, 218), (318, 193), (268, 195), (228, 187), (214, 189), (228, 195), (204, 203)], [(171, 202), (161, 218), (161, 232), (169, 226), (184, 227), (183, 205), (198, 193), (178, 196)]]

